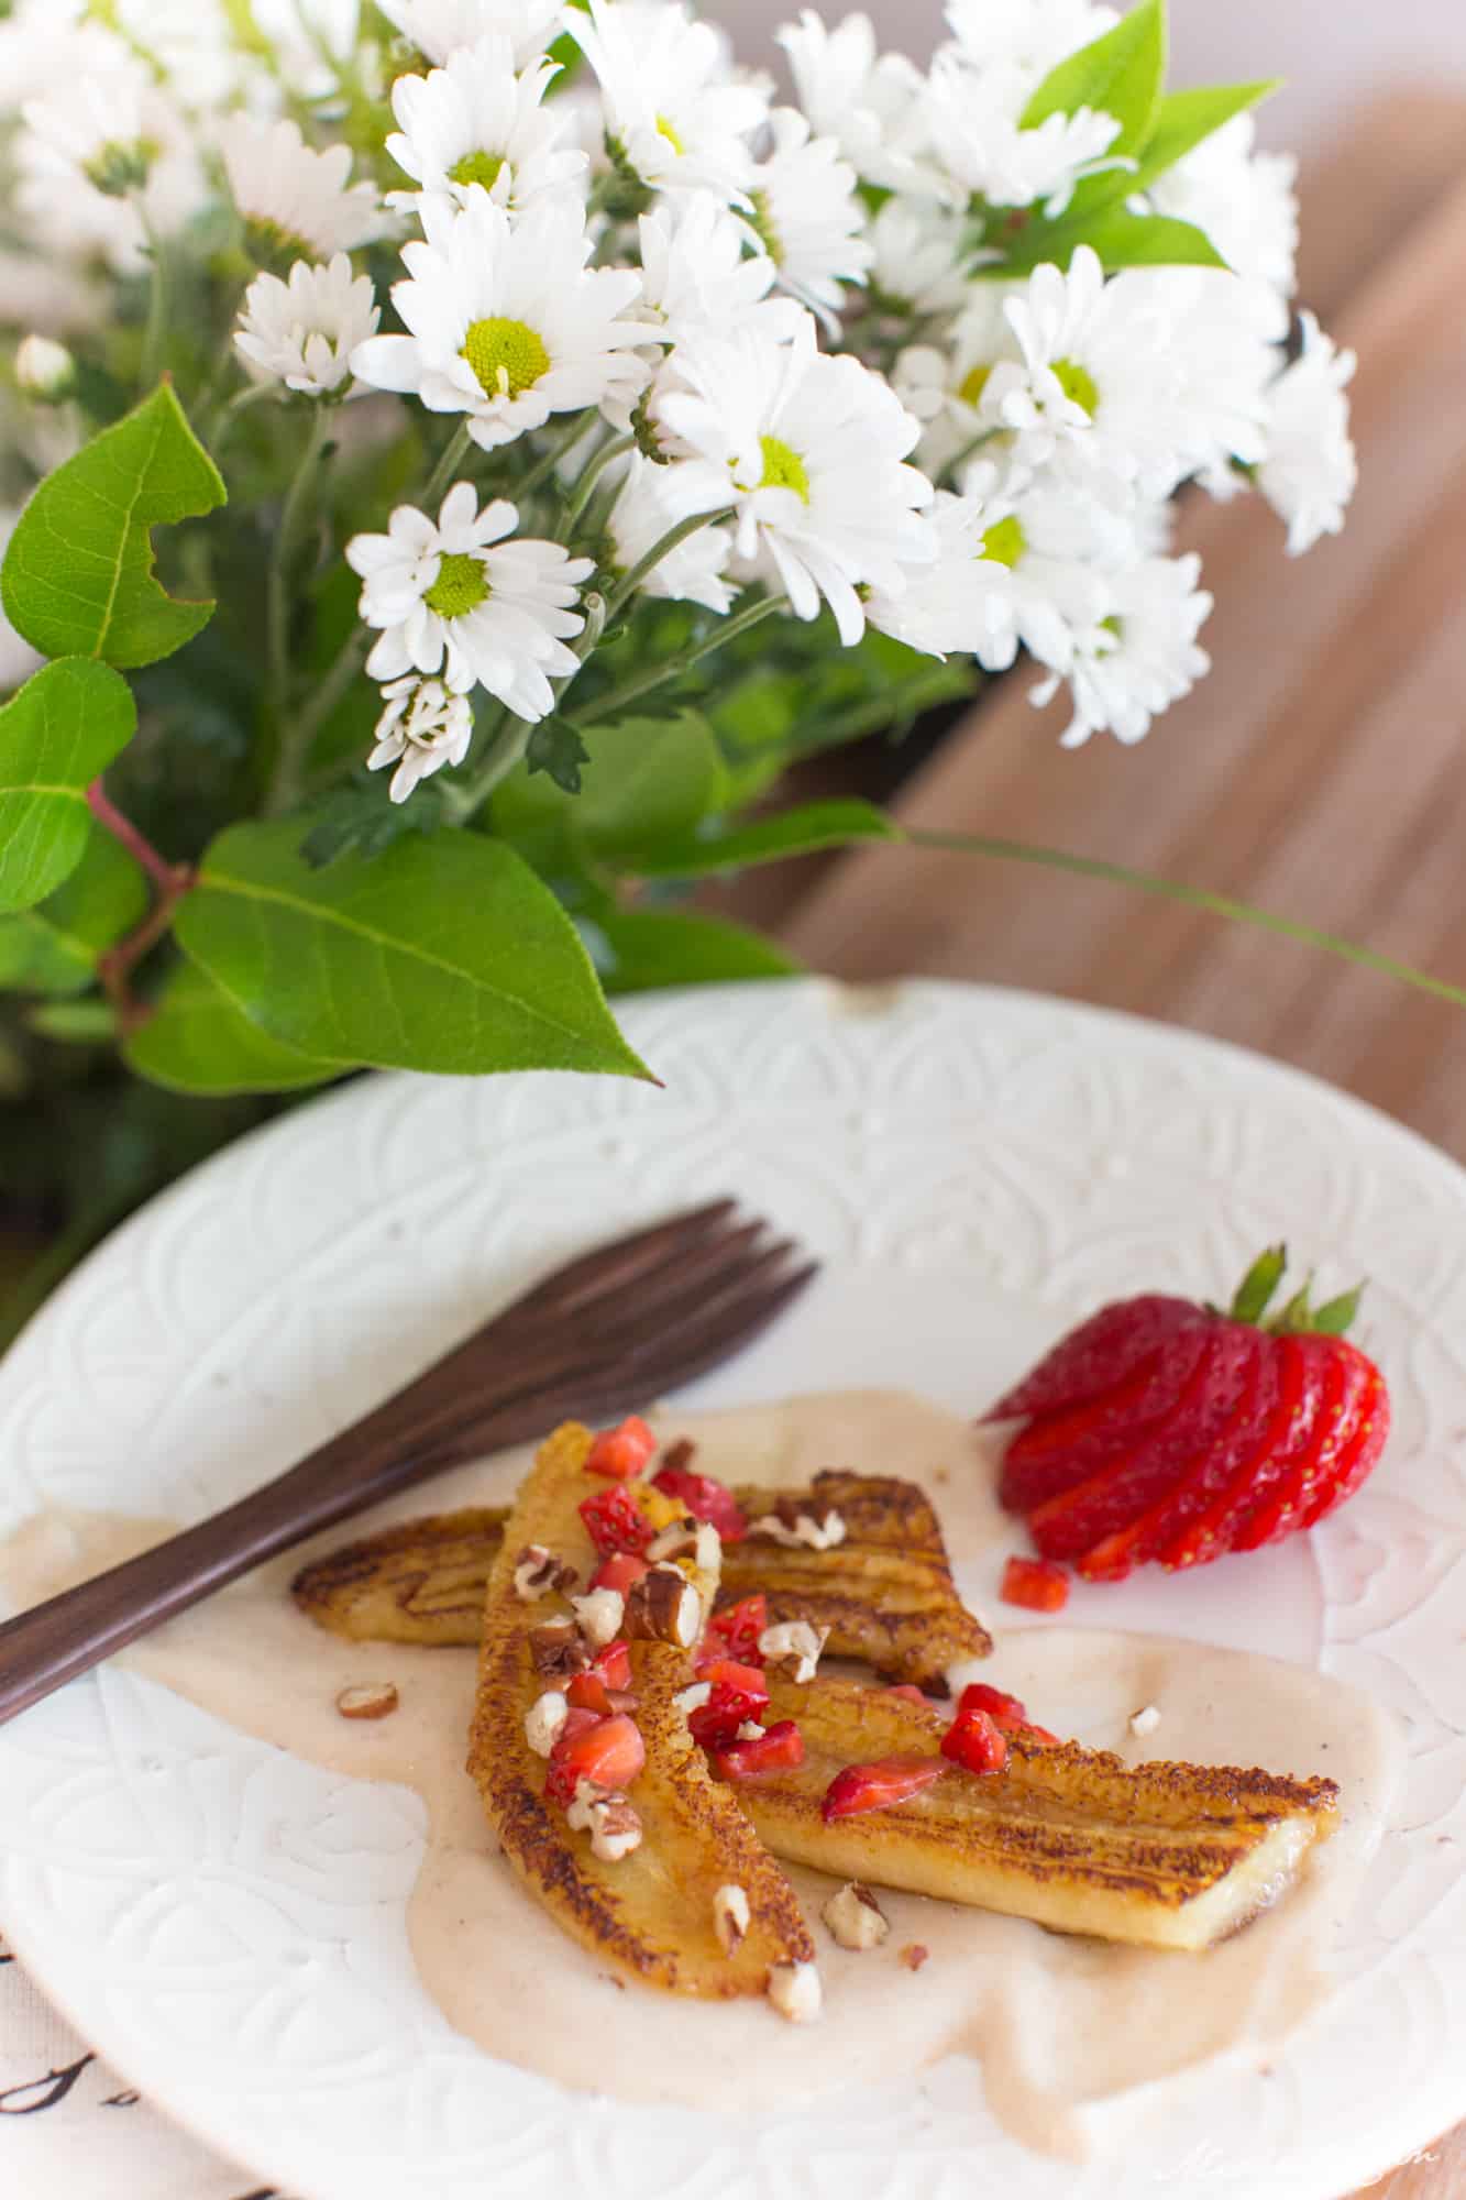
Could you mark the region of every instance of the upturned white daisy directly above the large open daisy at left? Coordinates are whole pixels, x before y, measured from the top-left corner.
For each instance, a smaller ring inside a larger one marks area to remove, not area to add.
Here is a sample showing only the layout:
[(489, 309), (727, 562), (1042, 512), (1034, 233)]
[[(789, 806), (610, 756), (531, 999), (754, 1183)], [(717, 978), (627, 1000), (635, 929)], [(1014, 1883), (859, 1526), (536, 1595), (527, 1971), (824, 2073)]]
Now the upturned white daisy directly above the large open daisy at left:
[[(418, 191), (438, 191), (467, 205), (486, 191), (495, 207), (522, 213), (544, 194), (570, 194), (577, 205), (586, 154), (568, 143), (564, 114), (546, 112), (555, 81), (553, 62), (515, 75), (513, 48), (502, 33), (460, 46), (429, 77), (398, 77), (392, 112), (398, 130), (387, 152), (416, 178)], [(416, 207), (416, 191), (392, 191), (390, 207)]]

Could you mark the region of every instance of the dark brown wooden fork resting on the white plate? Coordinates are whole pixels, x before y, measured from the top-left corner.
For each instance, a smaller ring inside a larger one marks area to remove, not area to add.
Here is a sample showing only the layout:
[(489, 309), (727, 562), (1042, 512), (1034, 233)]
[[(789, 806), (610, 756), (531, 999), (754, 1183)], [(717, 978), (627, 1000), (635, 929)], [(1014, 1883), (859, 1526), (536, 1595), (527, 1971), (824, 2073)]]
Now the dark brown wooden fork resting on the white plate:
[(731, 1199), (546, 1276), (464, 1344), (251, 1496), (0, 1626), (0, 1723), (238, 1580), (445, 1467), (555, 1421), (603, 1421), (751, 1344), (817, 1274)]

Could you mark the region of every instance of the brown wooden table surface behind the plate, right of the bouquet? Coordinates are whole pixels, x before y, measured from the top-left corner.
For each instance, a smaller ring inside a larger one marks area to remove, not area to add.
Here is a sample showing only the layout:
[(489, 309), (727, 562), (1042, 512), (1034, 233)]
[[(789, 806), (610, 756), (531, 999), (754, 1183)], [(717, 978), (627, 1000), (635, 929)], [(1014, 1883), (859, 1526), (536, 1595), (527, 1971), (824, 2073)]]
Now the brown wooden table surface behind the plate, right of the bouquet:
[[(1305, 183), (1303, 299), (1358, 350), (1358, 499), (1290, 563), (1261, 499), (1191, 499), (1213, 675), (1138, 750), (1057, 746), (1028, 675), (902, 788), (907, 825), (1257, 902), (1466, 986), (1466, 101), (1398, 95)], [(792, 867), (790, 867), (792, 871)], [(726, 889), (841, 977), (982, 977), (1241, 1041), (1466, 1159), (1466, 1010), (1125, 889), (874, 849)], [(1369, 2187), (1466, 2200), (1466, 2125)]]

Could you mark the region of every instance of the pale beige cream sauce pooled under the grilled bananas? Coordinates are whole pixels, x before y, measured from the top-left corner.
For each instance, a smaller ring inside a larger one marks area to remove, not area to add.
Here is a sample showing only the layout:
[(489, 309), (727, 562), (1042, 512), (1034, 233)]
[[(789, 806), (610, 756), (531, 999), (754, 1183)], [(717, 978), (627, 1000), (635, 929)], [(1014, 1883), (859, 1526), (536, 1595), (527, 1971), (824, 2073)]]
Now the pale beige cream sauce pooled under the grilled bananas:
[[(900, 1472), (929, 1487), (958, 1575), (1013, 1522), (993, 1494), (984, 1439), (898, 1393), (847, 1393), (720, 1415), (663, 1410), (691, 1434), (702, 1472), (797, 1485), (821, 1467)], [(623, 2101), (740, 2110), (889, 2086), (949, 2055), (977, 2057), (986, 2099), (1030, 2145), (1083, 2154), (1136, 2088), (1217, 2055), (1266, 2059), (1327, 1993), (1327, 1956), (1378, 1844), (1402, 1769), (1393, 1725), (1352, 1690), (1299, 1665), (1147, 1635), (1059, 1624), (999, 1632), (984, 1676), (1046, 1725), (1092, 1747), (1270, 1771), (1327, 1773), (1338, 1833), (1310, 1855), (1277, 1910), (1206, 1956), (1118, 1949), (905, 1894), (883, 1894), (889, 1940), (845, 1954), (817, 1925), (832, 1881), (795, 1870), (821, 1943), (825, 2013), (788, 2026), (766, 2004), (687, 2004), (610, 1978), (566, 1940), (495, 1852), (464, 1775), (473, 1654), (346, 1643), (304, 1619), (288, 1582), (306, 1558), (423, 1511), (508, 1503), (528, 1452), (440, 1476), (262, 1566), (125, 1652), (125, 1661), (220, 1718), (335, 1773), (394, 1780), (427, 1806), (412, 1894), (418, 1971), (447, 2017), (486, 2053)], [(42, 1514), (0, 1547), (18, 1608), (55, 1595), (169, 1533), (167, 1522)], [(343, 1687), (392, 1681), (394, 1716), (350, 1723)], [(1136, 1740), (1129, 1714), (1160, 1729)], [(911, 1971), (900, 1951), (918, 1943)], [(1202, 1991), (1197, 1991), (1202, 1989)], [(975, 2088), (971, 2061), (960, 2066)]]

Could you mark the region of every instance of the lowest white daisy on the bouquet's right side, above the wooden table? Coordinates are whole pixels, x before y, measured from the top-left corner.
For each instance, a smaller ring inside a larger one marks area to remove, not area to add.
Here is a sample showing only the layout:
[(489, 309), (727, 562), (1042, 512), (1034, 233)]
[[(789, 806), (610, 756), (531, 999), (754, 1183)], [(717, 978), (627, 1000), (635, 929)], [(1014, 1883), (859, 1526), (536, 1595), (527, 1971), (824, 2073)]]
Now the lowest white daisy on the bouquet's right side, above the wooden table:
[[(1105, 623), (1068, 673), (1074, 717), (1065, 748), (1083, 748), (1092, 733), (1105, 730), (1116, 741), (1142, 741), (1151, 719), (1206, 678), (1211, 658), (1197, 631), (1213, 598), (1195, 585), (1200, 572), (1200, 557), (1158, 557), (1107, 576)], [(1039, 682), (1032, 702), (1052, 702), (1057, 691), (1059, 673)]]

